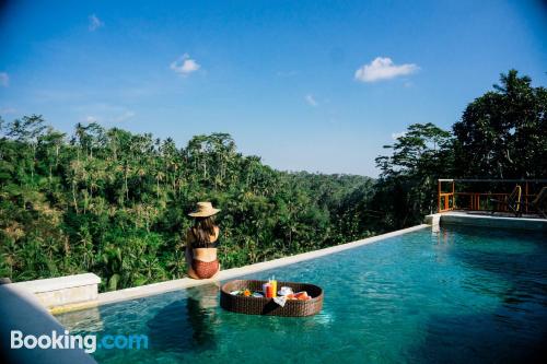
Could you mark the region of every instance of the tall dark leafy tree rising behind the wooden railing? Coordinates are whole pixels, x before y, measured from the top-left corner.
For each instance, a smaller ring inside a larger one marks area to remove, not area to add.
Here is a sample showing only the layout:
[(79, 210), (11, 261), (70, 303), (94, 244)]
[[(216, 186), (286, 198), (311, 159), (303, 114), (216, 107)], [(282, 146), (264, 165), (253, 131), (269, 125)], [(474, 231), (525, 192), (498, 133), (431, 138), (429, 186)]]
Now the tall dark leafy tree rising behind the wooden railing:
[(487, 178), (547, 175), (547, 89), (516, 70), (476, 98), (454, 125), (456, 173)]

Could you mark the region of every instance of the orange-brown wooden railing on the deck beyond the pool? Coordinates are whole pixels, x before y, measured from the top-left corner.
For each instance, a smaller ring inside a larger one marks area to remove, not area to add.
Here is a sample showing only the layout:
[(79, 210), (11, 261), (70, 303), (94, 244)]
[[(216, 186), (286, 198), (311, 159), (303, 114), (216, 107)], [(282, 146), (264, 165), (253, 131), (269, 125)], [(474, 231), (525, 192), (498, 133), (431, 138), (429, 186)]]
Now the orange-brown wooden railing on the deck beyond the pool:
[[(473, 185), (474, 183), (503, 184), (507, 185), (508, 192), (456, 191), (457, 183), (464, 183), (467, 185)], [(450, 191), (443, 191), (443, 184), (450, 184)], [(439, 179), (438, 211), (508, 211), (507, 204), (496, 201), (504, 201), (515, 185), (520, 185), (523, 189), (523, 203), (521, 204), (522, 212), (535, 212), (529, 206), (529, 202), (537, 196), (533, 191), (537, 192), (540, 189), (540, 186), (547, 185), (547, 179)], [(533, 189), (533, 187), (536, 188)]]

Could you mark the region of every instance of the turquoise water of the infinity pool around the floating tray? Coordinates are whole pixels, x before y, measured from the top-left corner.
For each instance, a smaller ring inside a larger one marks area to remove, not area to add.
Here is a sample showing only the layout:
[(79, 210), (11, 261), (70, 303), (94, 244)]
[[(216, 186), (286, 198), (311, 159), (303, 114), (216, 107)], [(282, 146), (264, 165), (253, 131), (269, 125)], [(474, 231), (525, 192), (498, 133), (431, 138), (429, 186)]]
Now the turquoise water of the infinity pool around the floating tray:
[(423, 228), (254, 274), (325, 289), (319, 315), (222, 310), (207, 285), (58, 316), (72, 332), (149, 336), (98, 363), (485, 363), (547, 357), (545, 235)]

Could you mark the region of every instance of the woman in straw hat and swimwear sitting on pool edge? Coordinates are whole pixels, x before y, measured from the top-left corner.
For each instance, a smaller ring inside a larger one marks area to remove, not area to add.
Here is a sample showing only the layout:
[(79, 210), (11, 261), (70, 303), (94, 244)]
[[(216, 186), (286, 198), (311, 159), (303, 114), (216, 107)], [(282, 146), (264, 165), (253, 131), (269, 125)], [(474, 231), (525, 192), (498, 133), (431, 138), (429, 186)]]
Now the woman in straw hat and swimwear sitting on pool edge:
[(186, 265), (188, 275), (194, 279), (213, 278), (220, 270), (217, 258), (220, 228), (214, 224), (219, 211), (211, 202), (198, 202), (196, 211), (188, 214), (195, 220), (186, 233)]

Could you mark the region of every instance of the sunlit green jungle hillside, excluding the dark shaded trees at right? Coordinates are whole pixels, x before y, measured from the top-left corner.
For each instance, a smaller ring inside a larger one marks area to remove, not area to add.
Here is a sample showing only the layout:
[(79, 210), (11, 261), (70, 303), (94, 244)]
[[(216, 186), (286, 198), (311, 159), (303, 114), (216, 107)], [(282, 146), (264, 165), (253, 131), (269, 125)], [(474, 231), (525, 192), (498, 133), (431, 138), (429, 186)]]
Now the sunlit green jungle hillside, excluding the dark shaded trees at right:
[(224, 268), (370, 234), (337, 220), (370, 178), (277, 172), (226, 133), (177, 148), (97, 124), (67, 138), (37, 115), (1, 127), (0, 275), (15, 281), (92, 271), (116, 290), (183, 277), (200, 200), (222, 209)]

